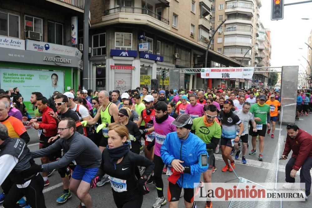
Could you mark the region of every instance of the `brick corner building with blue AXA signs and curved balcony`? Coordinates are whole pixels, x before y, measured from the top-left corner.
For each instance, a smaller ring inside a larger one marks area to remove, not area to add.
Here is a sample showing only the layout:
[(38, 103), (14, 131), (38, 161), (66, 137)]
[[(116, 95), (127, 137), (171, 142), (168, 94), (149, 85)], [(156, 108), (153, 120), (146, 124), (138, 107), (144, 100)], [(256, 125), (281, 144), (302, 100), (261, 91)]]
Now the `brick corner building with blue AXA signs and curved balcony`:
[[(221, 87), (221, 82), (213, 86), (200, 74), (175, 69), (204, 67), (211, 7), (209, 0), (92, 0), (89, 85), (122, 92), (144, 85), (154, 87), (151, 79), (157, 78), (161, 87), (173, 89)], [(207, 67), (239, 64), (209, 50)]]

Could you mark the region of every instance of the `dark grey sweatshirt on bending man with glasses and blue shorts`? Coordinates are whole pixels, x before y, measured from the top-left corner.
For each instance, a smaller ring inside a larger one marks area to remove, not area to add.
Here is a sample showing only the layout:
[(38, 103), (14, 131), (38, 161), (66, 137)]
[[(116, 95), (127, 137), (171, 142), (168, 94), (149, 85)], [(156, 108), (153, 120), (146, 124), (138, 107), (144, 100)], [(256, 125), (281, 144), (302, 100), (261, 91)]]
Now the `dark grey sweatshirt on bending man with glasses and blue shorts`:
[(83, 168), (98, 168), (101, 165), (101, 152), (88, 137), (75, 132), (70, 138), (58, 139), (54, 144), (46, 148), (32, 152), (33, 158), (48, 156), (51, 153), (63, 149), (64, 156), (58, 161), (43, 165), (43, 171), (51, 171), (67, 166), (75, 160), (77, 165)]

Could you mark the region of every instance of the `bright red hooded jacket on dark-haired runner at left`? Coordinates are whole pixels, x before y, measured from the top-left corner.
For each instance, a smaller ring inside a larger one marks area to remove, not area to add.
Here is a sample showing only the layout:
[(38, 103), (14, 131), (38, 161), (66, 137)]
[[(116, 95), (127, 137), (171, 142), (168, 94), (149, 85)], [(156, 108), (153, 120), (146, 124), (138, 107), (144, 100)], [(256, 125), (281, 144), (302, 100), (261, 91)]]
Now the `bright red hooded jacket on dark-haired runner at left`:
[(39, 124), (39, 128), (44, 129), (42, 133), (46, 137), (55, 136), (57, 134), (57, 125), (55, 119), (49, 115), (49, 111), (53, 111), (49, 106), (42, 112), (42, 123)]

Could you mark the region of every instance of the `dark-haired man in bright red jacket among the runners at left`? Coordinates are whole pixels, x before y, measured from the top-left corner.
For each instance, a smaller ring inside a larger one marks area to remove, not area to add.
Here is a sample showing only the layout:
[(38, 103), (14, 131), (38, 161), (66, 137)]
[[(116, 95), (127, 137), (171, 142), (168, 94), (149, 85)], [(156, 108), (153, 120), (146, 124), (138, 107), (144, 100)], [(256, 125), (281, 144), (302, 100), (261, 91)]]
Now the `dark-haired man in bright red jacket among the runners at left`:
[[(46, 148), (54, 142), (48, 143), (49, 138), (56, 136), (57, 125), (55, 119), (50, 116), (49, 111), (53, 111), (49, 105), (46, 97), (37, 97), (37, 106), (39, 111), (42, 112), (42, 122), (34, 123), (33, 126), (38, 130), (39, 149)], [(49, 161), (55, 161), (56, 158), (61, 157), (61, 151), (56, 151), (48, 157), (41, 157), (41, 164), (49, 163)], [(49, 186), (48, 173), (42, 172), (44, 186)]]

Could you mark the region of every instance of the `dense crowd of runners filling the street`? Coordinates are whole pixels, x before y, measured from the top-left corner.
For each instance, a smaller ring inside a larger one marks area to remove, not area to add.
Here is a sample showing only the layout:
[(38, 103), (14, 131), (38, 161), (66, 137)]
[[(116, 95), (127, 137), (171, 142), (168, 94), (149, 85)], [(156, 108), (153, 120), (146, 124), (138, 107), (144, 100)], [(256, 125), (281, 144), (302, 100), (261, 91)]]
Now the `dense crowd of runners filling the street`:
[[(308, 115), (308, 97), (309, 92), (298, 92), (297, 116), (301, 110)], [(33, 117), (24, 100), (32, 103)], [(117, 207), (141, 207), (153, 185), (157, 198), (151, 207), (167, 202), (178, 207), (181, 197), (185, 207), (197, 207), (193, 183), (201, 174), (203, 182), (213, 181), (214, 154), (221, 149), (222, 172), (232, 172), (236, 160), (265, 160), (264, 138), (275, 137), (279, 114), (279, 89), (137, 87), (56, 91), (48, 98), (41, 92), (22, 97), (18, 88), (8, 89), (0, 94), (0, 203), (46, 207), (42, 190), (57, 170), (64, 189), (58, 203), (76, 195), (77, 207), (92, 207), (89, 189), (110, 183)], [(39, 148), (33, 152), (27, 148), (29, 128), (38, 130)], [(212, 202), (207, 200), (206, 207)]]

